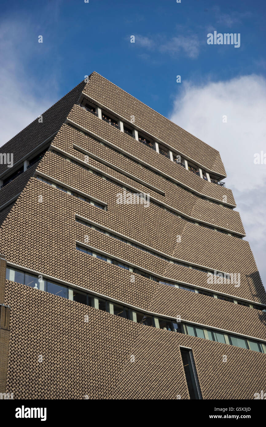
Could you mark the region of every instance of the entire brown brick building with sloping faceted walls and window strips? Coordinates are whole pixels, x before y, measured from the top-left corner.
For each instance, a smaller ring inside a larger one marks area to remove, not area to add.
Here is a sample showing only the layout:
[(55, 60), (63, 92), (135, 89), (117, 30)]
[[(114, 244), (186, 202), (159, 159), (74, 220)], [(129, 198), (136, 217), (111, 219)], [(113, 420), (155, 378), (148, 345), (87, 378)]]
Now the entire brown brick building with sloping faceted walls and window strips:
[(266, 294), (219, 152), (94, 72), (1, 163), (0, 392), (265, 389)]

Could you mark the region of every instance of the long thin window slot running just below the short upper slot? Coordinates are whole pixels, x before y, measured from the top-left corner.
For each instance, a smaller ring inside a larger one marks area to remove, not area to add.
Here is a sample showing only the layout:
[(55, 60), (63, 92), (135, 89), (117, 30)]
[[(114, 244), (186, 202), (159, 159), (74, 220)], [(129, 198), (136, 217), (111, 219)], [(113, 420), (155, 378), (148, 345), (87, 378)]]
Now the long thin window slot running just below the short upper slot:
[[(77, 165), (77, 166), (79, 166), (79, 167), (82, 167), (82, 169), (88, 170), (89, 172), (93, 173), (94, 175), (99, 176), (100, 178), (104, 179), (105, 181), (111, 182), (112, 184), (116, 185), (117, 187), (122, 188), (123, 190), (127, 190), (129, 193), (132, 193), (132, 191), (133, 191), (133, 190), (132, 190), (131, 188), (129, 188), (129, 187), (127, 186), (127, 184), (125, 184), (125, 183), (123, 183), (123, 184), (121, 183), (121, 184), (120, 184), (119, 182), (114, 181), (114, 179), (112, 179), (112, 178), (110, 178), (110, 177), (107, 177), (106, 175), (103, 175), (103, 173), (100, 173), (100, 172), (98, 172), (98, 171), (95, 171), (94, 169), (90, 168), (89, 166), (83, 165), (83, 164), (81, 164), (80, 162), (78, 162), (78, 161), (76, 161), (76, 160), (73, 160), (73, 159), (71, 159), (71, 158), (67, 157), (66, 155), (63, 155), (63, 154), (61, 154), (60, 152), (58, 152), (58, 151), (56, 151), (56, 150), (52, 150), (52, 152), (53, 152), (54, 154), (56, 154), (56, 155), (60, 156), (61, 158), (64, 158), (65, 160), (70, 161), (71, 163), (76, 164), (76, 165)], [(83, 154), (83, 153), (82, 153), (82, 154)], [(135, 191), (136, 191), (137, 193), (139, 193), (139, 190), (135, 189)], [(162, 205), (161, 203), (159, 203), (159, 202), (155, 202), (154, 200), (152, 200), (152, 198), (151, 198), (151, 197), (149, 198), (149, 202), (150, 202), (150, 203), (152, 203), (152, 204), (153, 204), (153, 205), (155, 205), (155, 206), (158, 206), (158, 207), (159, 207), (159, 208), (161, 208), (161, 209), (164, 209), (164, 211), (167, 211), (167, 212), (171, 213), (172, 215), (175, 215), (175, 216), (177, 216), (177, 217), (178, 217), (178, 218), (180, 218), (180, 219), (184, 219), (185, 221), (190, 222), (190, 223), (192, 223), (192, 224), (200, 225), (200, 226), (202, 226), (202, 227), (209, 228), (209, 229), (214, 230), (214, 231), (219, 231), (220, 233), (227, 234), (227, 235), (229, 235), (229, 236), (240, 237), (240, 236), (235, 235), (235, 234), (233, 234), (233, 233), (228, 233), (228, 232), (227, 232), (227, 231), (225, 231), (225, 230), (221, 230), (220, 228), (215, 228), (215, 227), (213, 227), (213, 226), (211, 226), (211, 225), (206, 225), (206, 224), (203, 224), (202, 222), (197, 222), (197, 221), (194, 221), (193, 219), (189, 219), (189, 218), (187, 218), (186, 216), (180, 215), (179, 213), (177, 213), (177, 212), (173, 211), (173, 210), (172, 210), (172, 209), (170, 209), (170, 208), (167, 208), (166, 206)], [(242, 238), (242, 237), (240, 237), (240, 238)]]

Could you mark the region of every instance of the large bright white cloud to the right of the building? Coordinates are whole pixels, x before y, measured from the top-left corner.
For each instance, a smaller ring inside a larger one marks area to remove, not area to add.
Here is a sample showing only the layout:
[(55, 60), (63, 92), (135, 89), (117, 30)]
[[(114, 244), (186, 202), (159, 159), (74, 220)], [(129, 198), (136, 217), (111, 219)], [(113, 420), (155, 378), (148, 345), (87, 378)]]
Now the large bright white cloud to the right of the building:
[[(266, 79), (240, 76), (225, 82), (183, 85), (170, 119), (218, 149), (237, 202), (246, 240), (266, 284), (263, 232), (266, 227), (266, 165), (254, 164), (254, 153), (266, 152)], [(222, 117), (227, 116), (227, 123)]]

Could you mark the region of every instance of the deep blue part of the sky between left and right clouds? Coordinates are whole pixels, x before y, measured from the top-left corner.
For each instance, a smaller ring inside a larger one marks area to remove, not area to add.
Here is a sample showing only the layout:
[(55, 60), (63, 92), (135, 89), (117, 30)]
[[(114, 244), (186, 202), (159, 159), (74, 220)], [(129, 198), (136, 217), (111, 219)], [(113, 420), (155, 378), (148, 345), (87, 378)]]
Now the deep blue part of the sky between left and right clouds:
[[(265, 71), (263, 1), (2, 1), (0, 19), (22, 24), (21, 71), (55, 100), (95, 70), (167, 115), (176, 75), (199, 84)], [(240, 32), (240, 48), (207, 45), (213, 30)]]

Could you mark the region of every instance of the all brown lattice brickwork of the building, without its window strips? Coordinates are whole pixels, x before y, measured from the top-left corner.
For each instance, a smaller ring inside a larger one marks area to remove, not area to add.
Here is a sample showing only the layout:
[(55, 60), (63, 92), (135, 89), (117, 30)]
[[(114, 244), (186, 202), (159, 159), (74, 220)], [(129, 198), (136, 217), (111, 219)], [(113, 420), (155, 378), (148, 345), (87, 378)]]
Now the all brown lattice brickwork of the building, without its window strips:
[[(76, 143), (147, 185), (163, 190), (165, 195), (99, 161), (89, 162), (102, 172), (150, 193), (199, 221), (244, 234), (238, 212), (211, 204), (175, 186), (63, 124), (68, 118), (199, 193), (221, 201), (227, 196), (227, 202), (235, 205), (231, 190), (202, 180), (78, 105), (73, 106), (82, 90), (128, 120), (134, 114), (136, 125), (146, 132), (207, 168), (225, 174), (219, 152), (97, 73), (91, 75), (86, 85), (80, 83), (47, 110), (42, 124), (36, 119), (6, 143), (3, 150), (14, 152), (16, 162), (59, 130), (53, 140), (59, 149), (84, 160), (84, 155), (73, 149)], [(36, 175), (32, 176), (36, 167), (36, 173), (50, 175), (63, 185), (102, 200), (107, 203), (108, 210), (103, 211), (39, 181)], [(0, 173), (3, 170), (5, 166), (0, 168)], [(153, 204), (149, 208), (118, 205), (120, 187), (52, 152), (47, 152), (39, 164), (0, 190), (1, 205), (19, 192), (15, 204), (0, 211), (0, 221), (3, 221), (0, 252), (6, 255), (9, 263), (158, 316), (181, 316), (190, 322), (265, 340), (266, 313), (261, 310), (159, 284), (137, 274), (132, 283), (131, 272), (76, 250), (76, 241), (86, 239), (98, 250), (154, 274), (266, 304), (266, 292), (248, 242), (192, 224)], [(240, 287), (208, 284), (206, 272), (169, 263), (86, 227), (76, 222), (76, 214), (170, 256), (210, 269), (240, 273)], [(181, 236), (179, 243), (178, 235)], [(193, 350), (205, 399), (252, 399), (254, 393), (265, 386), (265, 354), (143, 326), (5, 281), (4, 267), (0, 263), (0, 302), (11, 307), (11, 332), (9, 345), (9, 330), (3, 329), (8, 317), (3, 323), (3, 315), (0, 316), (0, 390), (5, 390), (6, 383), (6, 391), (13, 392), (14, 398), (176, 399), (181, 395), (182, 399), (187, 399), (180, 345)], [(85, 315), (88, 315), (88, 322), (85, 322)], [(228, 357), (227, 363), (222, 362), (224, 354)], [(135, 357), (133, 363), (130, 361), (132, 355)]]

